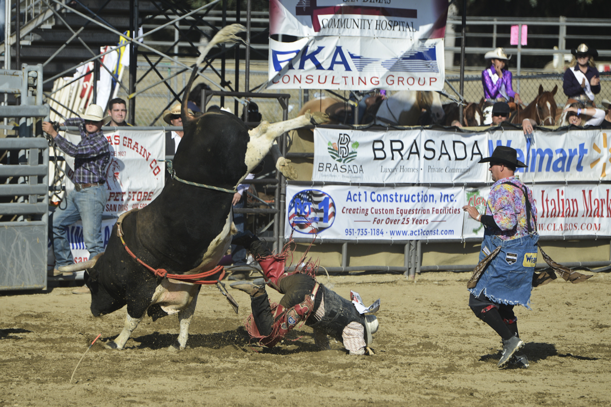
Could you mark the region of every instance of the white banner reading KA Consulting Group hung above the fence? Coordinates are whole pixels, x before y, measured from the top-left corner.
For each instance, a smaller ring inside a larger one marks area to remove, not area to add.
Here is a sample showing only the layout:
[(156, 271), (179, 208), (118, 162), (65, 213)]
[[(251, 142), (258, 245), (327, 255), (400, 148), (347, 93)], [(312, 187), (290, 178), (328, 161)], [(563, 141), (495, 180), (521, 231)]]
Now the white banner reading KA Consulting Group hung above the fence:
[(391, 38), (269, 39), (269, 89), (442, 90), (443, 38), (418, 45)]

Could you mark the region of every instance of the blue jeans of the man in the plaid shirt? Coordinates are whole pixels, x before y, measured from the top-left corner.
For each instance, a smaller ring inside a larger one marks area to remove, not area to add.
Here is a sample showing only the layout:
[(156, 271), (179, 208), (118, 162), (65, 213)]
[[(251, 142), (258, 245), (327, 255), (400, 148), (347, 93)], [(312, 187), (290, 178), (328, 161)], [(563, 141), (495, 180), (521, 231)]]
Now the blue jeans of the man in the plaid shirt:
[[(104, 251), (102, 237), (102, 212), (108, 194), (104, 186), (73, 190), (68, 193), (66, 207), (53, 213), (53, 251), (55, 268), (74, 262), (68, 242), (68, 227), (78, 220), (82, 221), (82, 237), (89, 251), (89, 258)], [(63, 202), (62, 202), (63, 204)]]

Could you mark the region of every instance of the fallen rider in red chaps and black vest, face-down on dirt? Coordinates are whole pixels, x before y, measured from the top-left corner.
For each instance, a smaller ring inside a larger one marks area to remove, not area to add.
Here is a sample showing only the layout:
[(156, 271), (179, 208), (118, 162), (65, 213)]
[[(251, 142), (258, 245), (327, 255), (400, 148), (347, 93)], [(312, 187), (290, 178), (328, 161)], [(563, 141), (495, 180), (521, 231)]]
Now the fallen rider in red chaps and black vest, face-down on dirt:
[[(371, 334), (378, 331), (378, 319), (375, 315), (361, 315), (351, 301), (317, 283), (316, 267), (308, 264), (301, 270), (285, 273), (286, 254), (274, 256), (250, 231), (236, 235), (232, 243), (250, 248), (265, 275), (265, 279), (230, 284), (251, 296), (252, 314), (244, 325), (259, 344), (274, 347), (299, 322), (305, 321), (305, 325), (313, 328), (315, 344), (321, 350), (329, 348), (329, 335), (342, 342), (350, 355), (373, 355)], [(266, 281), (284, 294), (280, 304), (270, 303)], [(364, 312), (376, 312), (378, 308), (379, 300)]]

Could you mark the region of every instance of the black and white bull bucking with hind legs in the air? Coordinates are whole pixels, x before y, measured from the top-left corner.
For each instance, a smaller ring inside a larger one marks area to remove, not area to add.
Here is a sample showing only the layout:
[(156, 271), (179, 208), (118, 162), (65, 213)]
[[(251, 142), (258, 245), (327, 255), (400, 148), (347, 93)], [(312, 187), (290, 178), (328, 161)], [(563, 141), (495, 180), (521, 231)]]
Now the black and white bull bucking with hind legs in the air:
[[(240, 31), (244, 27), (233, 24), (214, 36), (197, 60), (185, 95), (208, 51), (218, 43), (238, 41), (235, 34)], [(117, 229), (115, 225), (112, 229), (106, 252), (88, 262), (62, 268), (64, 272), (86, 270), (85, 282), (91, 290), (91, 312), (95, 317), (127, 305), (123, 331), (106, 344), (108, 348), (123, 349), (147, 312), (153, 320), (178, 314), (180, 333), (172, 347), (185, 348), (201, 286), (164, 278), (164, 273), (201, 275), (214, 270), (235, 230), (233, 190), (265, 157), (276, 137), (328, 120), (323, 113), (307, 114), (280, 123), (263, 121), (249, 131), (231, 113), (216, 111), (192, 117), (187, 111), (185, 96), (181, 109), (185, 134), (174, 156), (175, 178), (148, 206), (120, 219), (121, 227)], [(220, 276), (208, 277), (211, 282), (215, 278)]]

